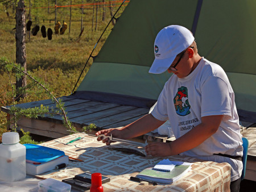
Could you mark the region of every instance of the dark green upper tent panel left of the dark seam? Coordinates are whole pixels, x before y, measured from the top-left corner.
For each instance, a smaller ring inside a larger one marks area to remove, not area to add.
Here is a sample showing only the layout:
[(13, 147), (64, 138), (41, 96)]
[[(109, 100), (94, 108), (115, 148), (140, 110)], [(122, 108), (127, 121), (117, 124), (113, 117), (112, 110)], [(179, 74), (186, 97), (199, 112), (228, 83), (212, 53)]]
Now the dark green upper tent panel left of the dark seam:
[(130, 1), (94, 62), (151, 66), (158, 32), (171, 24), (190, 29), (196, 5), (187, 0)]

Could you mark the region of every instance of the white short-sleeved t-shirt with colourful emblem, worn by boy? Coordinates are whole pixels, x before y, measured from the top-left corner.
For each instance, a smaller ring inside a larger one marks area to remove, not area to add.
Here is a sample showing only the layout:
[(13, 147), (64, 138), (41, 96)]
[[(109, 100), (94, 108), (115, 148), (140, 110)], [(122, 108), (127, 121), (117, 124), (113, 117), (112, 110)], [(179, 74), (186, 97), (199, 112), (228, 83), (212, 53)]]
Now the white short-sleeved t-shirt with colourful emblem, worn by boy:
[(200, 124), (203, 116), (224, 115), (216, 133), (181, 155), (228, 162), (232, 166), (231, 181), (240, 178), (242, 161), (213, 155), (242, 156), (242, 135), (234, 92), (221, 66), (203, 57), (187, 77), (171, 76), (151, 114), (158, 120), (170, 119), (176, 138)]

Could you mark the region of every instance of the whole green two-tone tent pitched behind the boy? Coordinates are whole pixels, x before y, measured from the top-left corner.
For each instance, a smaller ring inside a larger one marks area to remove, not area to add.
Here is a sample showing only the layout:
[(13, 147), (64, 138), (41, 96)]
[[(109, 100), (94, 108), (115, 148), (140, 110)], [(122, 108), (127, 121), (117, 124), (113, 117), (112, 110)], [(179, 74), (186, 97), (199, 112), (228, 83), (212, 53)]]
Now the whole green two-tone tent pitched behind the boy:
[(150, 74), (156, 34), (191, 29), (199, 54), (228, 74), (240, 119), (256, 122), (255, 0), (131, 0), (77, 88), (76, 97), (147, 106), (170, 74)]

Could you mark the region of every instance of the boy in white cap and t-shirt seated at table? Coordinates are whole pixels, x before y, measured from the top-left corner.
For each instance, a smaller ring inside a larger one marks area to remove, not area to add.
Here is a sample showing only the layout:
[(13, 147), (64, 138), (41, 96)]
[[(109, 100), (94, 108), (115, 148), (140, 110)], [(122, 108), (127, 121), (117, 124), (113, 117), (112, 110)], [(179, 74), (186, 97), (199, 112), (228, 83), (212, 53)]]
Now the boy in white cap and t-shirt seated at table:
[[(168, 26), (156, 36), (150, 73), (174, 73), (164, 85), (151, 114), (123, 128), (98, 131), (130, 139), (170, 120), (176, 137), (171, 143), (150, 143), (147, 155), (187, 155), (232, 166), (230, 189), (239, 191), (242, 136), (234, 92), (224, 70), (197, 53), (192, 33)], [(98, 139), (101, 140), (101, 139)], [(108, 139), (103, 142), (109, 145)]]

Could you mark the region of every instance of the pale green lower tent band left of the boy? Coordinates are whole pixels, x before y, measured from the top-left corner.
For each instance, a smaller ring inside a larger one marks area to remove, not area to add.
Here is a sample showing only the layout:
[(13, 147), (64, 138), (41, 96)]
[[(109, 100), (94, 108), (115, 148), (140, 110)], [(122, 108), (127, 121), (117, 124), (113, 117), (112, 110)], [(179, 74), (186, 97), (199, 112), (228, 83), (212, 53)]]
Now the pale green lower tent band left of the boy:
[(158, 99), (170, 74), (166, 72), (155, 76), (148, 73), (149, 69), (149, 66), (94, 62), (86, 74), (86, 80), (77, 88), (77, 91), (100, 91)]

